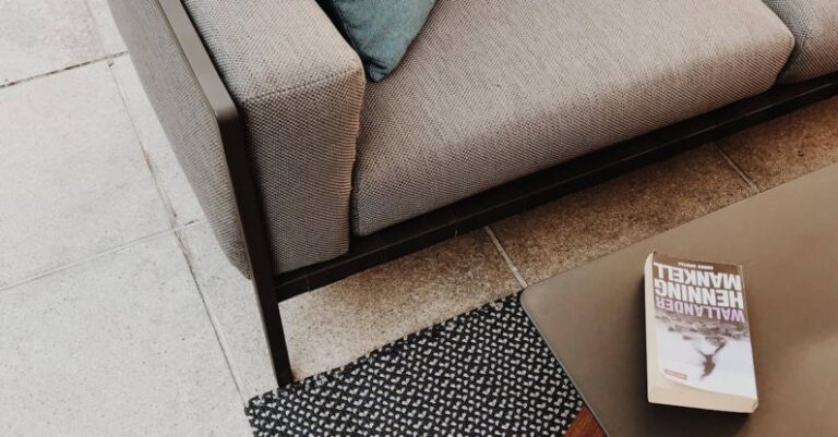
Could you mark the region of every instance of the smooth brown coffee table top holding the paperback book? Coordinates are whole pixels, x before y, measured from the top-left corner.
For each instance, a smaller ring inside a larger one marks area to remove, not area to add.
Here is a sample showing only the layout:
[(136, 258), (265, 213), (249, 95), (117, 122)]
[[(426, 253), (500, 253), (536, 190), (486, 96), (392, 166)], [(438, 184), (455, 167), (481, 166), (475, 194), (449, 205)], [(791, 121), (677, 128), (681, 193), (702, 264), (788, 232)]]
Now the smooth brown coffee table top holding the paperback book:
[[(755, 413), (647, 402), (653, 250), (744, 265)], [(838, 165), (547, 279), (522, 303), (590, 409), (574, 437), (838, 436)]]

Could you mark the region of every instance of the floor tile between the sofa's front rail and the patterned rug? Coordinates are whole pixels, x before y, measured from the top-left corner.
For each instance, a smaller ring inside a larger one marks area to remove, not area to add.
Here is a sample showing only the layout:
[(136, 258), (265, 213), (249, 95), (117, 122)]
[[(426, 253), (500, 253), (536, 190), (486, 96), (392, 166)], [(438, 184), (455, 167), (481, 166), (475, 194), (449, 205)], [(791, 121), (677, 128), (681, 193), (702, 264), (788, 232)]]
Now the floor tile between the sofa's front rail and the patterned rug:
[(520, 290), (487, 234), (458, 236), (280, 305), (306, 377)]

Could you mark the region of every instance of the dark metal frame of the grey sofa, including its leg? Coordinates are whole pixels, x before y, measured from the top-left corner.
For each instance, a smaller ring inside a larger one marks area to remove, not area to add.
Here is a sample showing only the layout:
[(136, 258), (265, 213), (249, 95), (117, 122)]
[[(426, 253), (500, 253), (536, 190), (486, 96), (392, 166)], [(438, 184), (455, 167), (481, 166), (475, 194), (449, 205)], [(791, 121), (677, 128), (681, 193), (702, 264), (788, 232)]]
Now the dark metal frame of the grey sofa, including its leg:
[(372, 235), (354, 236), (347, 254), (275, 276), (236, 104), (180, 0), (159, 1), (222, 133), (253, 287), (279, 386), (291, 381), (279, 302), (838, 94), (838, 74), (778, 85), (758, 96), (560, 163)]

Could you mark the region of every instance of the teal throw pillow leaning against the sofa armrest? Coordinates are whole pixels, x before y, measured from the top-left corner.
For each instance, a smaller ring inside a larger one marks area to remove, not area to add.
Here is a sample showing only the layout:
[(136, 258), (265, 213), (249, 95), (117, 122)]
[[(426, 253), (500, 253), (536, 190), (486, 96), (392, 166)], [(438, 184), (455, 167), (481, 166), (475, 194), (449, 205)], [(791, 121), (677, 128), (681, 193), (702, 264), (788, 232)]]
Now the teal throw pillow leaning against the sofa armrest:
[(402, 61), (435, 0), (318, 0), (379, 82)]

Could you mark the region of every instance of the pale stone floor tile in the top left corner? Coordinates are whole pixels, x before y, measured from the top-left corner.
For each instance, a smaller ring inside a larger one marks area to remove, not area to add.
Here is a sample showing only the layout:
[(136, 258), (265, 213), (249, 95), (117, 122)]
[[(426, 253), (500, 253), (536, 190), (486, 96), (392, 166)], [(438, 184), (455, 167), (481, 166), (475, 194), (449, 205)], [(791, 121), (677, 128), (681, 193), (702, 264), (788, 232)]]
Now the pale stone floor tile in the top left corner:
[(0, 0), (0, 85), (101, 56), (85, 0)]

